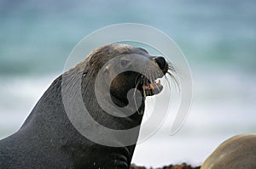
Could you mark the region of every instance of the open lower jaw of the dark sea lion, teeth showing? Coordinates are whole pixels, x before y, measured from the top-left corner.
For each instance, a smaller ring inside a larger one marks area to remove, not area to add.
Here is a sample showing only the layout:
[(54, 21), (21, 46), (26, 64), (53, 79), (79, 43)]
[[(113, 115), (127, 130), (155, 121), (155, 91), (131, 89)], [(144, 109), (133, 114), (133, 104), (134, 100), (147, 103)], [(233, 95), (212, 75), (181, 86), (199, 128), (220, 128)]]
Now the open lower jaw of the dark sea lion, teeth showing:
[(153, 96), (154, 94), (158, 94), (162, 91), (163, 86), (160, 83), (160, 80), (158, 82), (147, 82), (143, 84), (143, 93), (146, 96)]

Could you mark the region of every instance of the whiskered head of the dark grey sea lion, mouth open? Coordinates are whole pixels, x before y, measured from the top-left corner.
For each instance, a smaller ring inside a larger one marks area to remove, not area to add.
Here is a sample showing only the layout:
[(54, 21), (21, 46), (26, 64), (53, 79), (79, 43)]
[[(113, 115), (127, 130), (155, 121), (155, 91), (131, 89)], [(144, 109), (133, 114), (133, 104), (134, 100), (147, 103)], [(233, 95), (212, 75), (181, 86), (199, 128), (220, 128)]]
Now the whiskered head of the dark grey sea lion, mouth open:
[[(115, 104), (129, 104), (127, 94), (135, 90), (144, 100), (162, 91), (163, 86), (157, 78), (166, 75), (169, 64), (164, 57), (151, 56), (143, 48), (135, 48), (125, 44), (111, 44), (98, 48), (89, 55), (92, 71), (101, 79), (97, 91), (110, 92)], [(109, 84), (109, 85), (108, 85)], [(105, 91), (104, 91), (105, 90)], [(139, 97), (137, 95), (137, 97)]]

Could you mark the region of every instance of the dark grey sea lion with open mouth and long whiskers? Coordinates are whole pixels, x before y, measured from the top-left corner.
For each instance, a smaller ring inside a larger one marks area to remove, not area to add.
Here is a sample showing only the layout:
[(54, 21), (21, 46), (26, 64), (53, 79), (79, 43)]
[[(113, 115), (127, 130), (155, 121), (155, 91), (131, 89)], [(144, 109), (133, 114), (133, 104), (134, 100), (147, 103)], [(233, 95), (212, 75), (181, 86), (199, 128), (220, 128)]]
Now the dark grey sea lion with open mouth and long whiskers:
[[(137, 65), (144, 68), (144, 74), (125, 71), (113, 78), (114, 69), (109, 69), (113, 65), (106, 63), (120, 55), (125, 57), (120, 58), (115, 65), (119, 65), (119, 68)], [(131, 55), (134, 55), (133, 58), (129, 58)], [(160, 69), (160, 73), (152, 71), (153, 67)], [(124, 130), (141, 124), (146, 96), (160, 93), (162, 90), (160, 82), (154, 81), (167, 73), (172, 75), (169, 72), (172, 68), (166, 59), (150, 56), (143, 48), (124, 44), (110, 44), (96, 48), (84, 61), (57, 77), (39, 99), (22, 127), (15, 134), (0, 141), (0, 167), (129, 168), (136, 144), (111, 147), (94, 143), (84, 137), (67, 117), (61, 90), (65, 87), (72, 91), (73, 86), (77, 85), (80, 79), (80, 92), (84, 105), (94, 120), (105, 127)], [(141, 93), (142, 98), (134, 99), (136, 102), (140, 101), (136, 103), (139, 107), (134, 114), (119, 117), (102, 110), (95, 93), (96, 76), (100, 70), (103, 70), (106, 81), (112, 79), (110, 95), (117, 107), (122, 108), (129, 104), (126, 95), (132, 88), (136, 88)], [(61, 84), (64, 77), (70, 77), (65, 85)], [(69, 94), (67, 98), (73, 100), (73, 95), (76, 93)], [(76, 105), (73, 107), (75, 109)], [(90, 131), (90, 127), (86, 129)], [(138, 132), (139, 130), (125, 138), (132, 138), (136, 143)], [(102, 139), (105, 137), (104, 133), (90, 134)]]

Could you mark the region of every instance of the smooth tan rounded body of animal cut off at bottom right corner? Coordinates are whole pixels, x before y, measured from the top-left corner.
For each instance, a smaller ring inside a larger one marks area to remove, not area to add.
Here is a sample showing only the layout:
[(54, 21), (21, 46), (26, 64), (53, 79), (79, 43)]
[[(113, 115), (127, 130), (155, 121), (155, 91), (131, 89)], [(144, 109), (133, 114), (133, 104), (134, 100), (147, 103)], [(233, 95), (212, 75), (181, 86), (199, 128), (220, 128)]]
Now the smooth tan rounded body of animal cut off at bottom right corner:
[(256, 134), (241, 134), (220, 144), (201, 169), (256, 168)]

